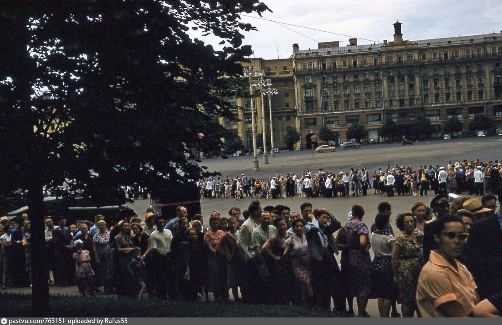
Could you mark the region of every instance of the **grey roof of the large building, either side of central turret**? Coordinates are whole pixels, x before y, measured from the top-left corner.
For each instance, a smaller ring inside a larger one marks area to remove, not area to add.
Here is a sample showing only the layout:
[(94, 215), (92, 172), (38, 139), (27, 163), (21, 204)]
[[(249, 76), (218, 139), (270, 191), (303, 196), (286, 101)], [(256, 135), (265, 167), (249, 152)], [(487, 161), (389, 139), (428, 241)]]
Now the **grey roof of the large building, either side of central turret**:
[[(437, 46), (448, 46), (448, 45), (459, 45), (468, 43), (479, 43), (483, 42), (485, 37), (490, 37), (493, 40), (502, 40), (502, 33), (492, 33), (492, 34), (481, 34), (481, 35), (470, 35), (470, 36), (457, 36), (457, 37), (445, 37), (440, 39), (430, 39), (430, 40), (419, 40), (419, 41), (408, 41), (408, 44), (418, 43), (420, 48), (427, 47), (437, 47)], [(406, 41), (405, 41), (406, 42)], [(389, 43), (388, 43), (389, 45)], [(325, 49), (310, 49), (310, 50), (300, 50), (295, 51), (294, 54), (312, 54), (317, 52), (318, 55), (339, 55), (348, 53), (364, 53), (364, 52), (378, 52), (385, 46), (384, 43), (379, 44), (364, 44), (364, 45), (353, 45), (353, 46), (342, 46), (339, 48), (325, 48)]]

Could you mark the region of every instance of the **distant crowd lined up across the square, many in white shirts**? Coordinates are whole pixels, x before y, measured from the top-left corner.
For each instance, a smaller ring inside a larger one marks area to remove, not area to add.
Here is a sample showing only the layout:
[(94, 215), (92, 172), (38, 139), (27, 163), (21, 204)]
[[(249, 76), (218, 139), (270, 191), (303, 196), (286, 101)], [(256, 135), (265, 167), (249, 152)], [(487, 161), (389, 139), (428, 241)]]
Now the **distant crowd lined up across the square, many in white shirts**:
[[(294, 172), (275, 175), (268, 178), (249, 177), (241, 173), (240, 177), (209, 177), (199, 179), (197, 186), (201, 198), (286, 198), (298, 197), (349, 197), (367, 195), (373, 188), (374, 195), (394, 196), (414, 195), (427, 196), (428, 191), (434, 194), (461, 193), (480, 195), (499, 187), (502, 179), (502, 163), (498, 160), (482, 162), (479, 159), (462, 163), (448, 162), (445, 166), (421, 165), (387, 166), (372, 173), (367, 168), (350, 171), (325, 172), (323, 168), (312, 173), (306, 168), (301, 175)], [(492, 191), (494, 192), (494, 191)]]

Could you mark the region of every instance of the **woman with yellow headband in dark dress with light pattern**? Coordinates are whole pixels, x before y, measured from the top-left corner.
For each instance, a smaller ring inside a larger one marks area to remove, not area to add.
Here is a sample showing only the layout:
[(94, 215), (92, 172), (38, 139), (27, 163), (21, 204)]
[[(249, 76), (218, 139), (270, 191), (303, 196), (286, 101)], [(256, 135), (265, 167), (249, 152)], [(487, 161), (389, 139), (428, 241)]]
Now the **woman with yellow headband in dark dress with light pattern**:
[(97, 274), (101, 276), (104, 294), (112, 294), (113, 248), (110, 246), (110, 231), (106, 229), (104, 220), (99, 220), (96, 225), (99, 232), (92, 237), (92, 251), (98, 268)]

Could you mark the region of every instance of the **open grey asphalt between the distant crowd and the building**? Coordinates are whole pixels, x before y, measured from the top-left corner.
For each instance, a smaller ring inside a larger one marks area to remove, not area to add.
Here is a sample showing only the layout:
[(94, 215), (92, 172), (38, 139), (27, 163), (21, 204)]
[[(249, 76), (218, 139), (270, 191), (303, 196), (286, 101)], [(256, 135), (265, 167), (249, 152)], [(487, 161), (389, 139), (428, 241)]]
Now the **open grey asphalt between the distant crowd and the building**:
[(283, 151), (276, 157), (269, 155), (269, 164), (263, 164), (263, 155), (258, 157), (260, 171), (253, 172), (253, 156), (230, 156), (203, 159), (200, 165), (207, 171), (220, 172), (229, 177), (244, 173), (246, 176), (269, 177), (275, 174), (299, 172), (309, 168), (317, 171), (324, 168), (326, 172), (348, 171), (350, 167), (367, 167), (370, 172), (379, 167), (385, 168), (399, 164), (400, 166), (446, 165), (448, 161), (462, 162), (464, 159), (481, 161), (502, 159), (502, 137), (456, 138), (451, 140), (435, 140), (415, 142), (403, 146), (401, 143), (361, 145), (359, 149), (341, 149), (335, 152), (316, 153), (313, 150)]

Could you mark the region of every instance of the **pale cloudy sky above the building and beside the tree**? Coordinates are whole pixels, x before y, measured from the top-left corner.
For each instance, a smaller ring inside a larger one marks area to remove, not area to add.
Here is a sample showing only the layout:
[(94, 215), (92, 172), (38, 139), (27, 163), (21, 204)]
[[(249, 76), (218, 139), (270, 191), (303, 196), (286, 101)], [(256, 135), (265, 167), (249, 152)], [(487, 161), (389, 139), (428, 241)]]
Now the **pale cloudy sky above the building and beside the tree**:
[[(392, 24), (403, 24), (404, 40), (423, 40), (453, 36), (500, 33), (502, 1), (500, 0), (263, 0), (272, 12), (263, 17), (273, 21), (314, 28), (357, 38), (357, 44), (394, 39)], [(256, 13), (248, 16), (259, 17)], [(280, 26), (268, 20), (241, 15), (241, 20), (258, 31), (245, 32), (243, 45), (252, 45), (254, 56), (265, 59), (286, 59), (292, 55), (293, 44), (300, 50), (317, 49), (317, 42), (340, 41), (346, 46), (350, 37), (312, 31), (300, 27)], [(289, 30), (289, 29), (291, 30)], [(305, 36), (295, 33), (301, 33)], [(220, 49), (216, 37), (201, 37)], [(308, 37), (308, 38), (307, 38)], [(310, 39), (309, 39), (310, 38)], [(315, 41), (314, 41), (315, 40)], [(224, 45), (223, 45), (224, 46)]]

